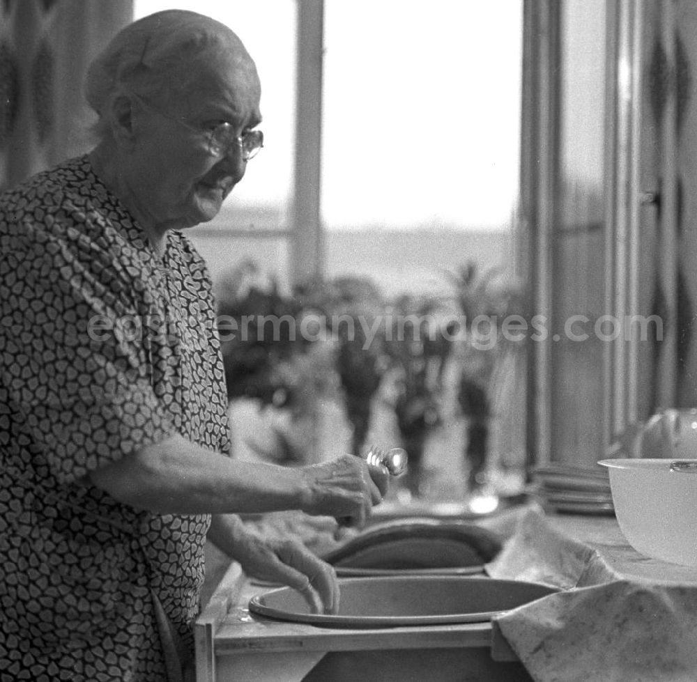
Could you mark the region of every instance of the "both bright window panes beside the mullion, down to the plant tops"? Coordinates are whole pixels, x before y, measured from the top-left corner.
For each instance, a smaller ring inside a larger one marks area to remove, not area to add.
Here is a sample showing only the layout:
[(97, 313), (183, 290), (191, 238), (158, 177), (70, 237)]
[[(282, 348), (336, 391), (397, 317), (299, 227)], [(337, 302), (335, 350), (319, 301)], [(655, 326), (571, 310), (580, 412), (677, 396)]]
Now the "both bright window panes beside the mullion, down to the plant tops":
[[(135, 16), (173, 7), (229, 24), (263, 86), (266, 147), (221, 215), (193, 234), (214, 275), (252, 249), (287, 277), (297, 2), (135, 0)], [(471, 257), (489, 265), (508, 256), (521, 22), (522, 0), (324, 3), (321, 222), (329, 275), (381, 264), (386, 286), (404, 284), (405, 268), (413, 286), (429, 286), (434, 262)], [(250, 226), (243, 241), (231, 238)], [(404, 262), (415, 258), (408, 248), (420, 263)]]

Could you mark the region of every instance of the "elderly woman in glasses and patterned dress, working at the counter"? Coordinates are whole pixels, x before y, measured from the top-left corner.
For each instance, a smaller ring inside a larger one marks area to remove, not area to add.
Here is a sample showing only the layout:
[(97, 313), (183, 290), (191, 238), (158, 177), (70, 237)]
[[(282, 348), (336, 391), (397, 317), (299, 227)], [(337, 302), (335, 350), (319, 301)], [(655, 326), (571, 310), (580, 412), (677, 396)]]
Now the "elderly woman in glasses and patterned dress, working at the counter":
[(95, 149), (0, 196), (2, 680), (166, 680), (192, 656), (206, 536), (337, 607), (330, 566), (234, 514), (361, 525), (385, 473), (229, 457), (210, 281), (181, 232), (261, 147), (259, 96), (226, 26), (146, 17), (89, 70)]

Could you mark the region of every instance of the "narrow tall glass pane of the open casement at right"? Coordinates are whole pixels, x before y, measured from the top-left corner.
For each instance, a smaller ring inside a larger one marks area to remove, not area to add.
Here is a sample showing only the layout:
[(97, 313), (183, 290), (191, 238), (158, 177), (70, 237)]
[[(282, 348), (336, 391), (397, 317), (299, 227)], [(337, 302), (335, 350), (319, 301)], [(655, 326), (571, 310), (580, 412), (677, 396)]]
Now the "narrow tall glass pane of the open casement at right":
[(604, 451), (607, 405), (598, 396), (606, 382), (608, 348), (592, 333), (592, 323), (584, 332), (576, 323), (567, 333), (567, 325), (579, 318), (599, 320), (608, 312), (605, 102), (607, 60), (614, 57), (606, 54), (604, 0), (563, 0), (558, 8), (551, 319), (552, 338), (560, 343), (550, 346), (551, 453), (558, 462), (593, 467)]

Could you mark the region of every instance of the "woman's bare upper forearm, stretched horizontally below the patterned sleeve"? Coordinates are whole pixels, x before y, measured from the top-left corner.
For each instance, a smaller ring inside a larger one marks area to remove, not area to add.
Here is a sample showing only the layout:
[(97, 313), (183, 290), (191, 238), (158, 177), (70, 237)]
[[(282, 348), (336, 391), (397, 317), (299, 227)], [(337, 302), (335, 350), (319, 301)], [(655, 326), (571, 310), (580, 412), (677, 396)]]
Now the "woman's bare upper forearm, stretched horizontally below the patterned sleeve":
[(307, 506), (297, 469), (235, 460), (176, 435), (91, 472), (119, 502), (155, 513), (259, 513)]

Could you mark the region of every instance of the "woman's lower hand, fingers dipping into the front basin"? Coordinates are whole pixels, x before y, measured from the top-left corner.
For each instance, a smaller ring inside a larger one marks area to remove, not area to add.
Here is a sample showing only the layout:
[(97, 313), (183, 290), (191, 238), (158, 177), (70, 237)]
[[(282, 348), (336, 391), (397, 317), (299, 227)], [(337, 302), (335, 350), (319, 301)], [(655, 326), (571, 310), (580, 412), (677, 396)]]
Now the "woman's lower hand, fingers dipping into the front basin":
[(313, 613), (339, 611), (339, 584), (334, 568), (298, 540), (263, 540), (248, 535), (236, 543), (234, 559), (250, 578), (280, 582), (296, 589)]

